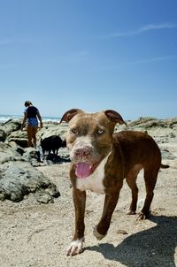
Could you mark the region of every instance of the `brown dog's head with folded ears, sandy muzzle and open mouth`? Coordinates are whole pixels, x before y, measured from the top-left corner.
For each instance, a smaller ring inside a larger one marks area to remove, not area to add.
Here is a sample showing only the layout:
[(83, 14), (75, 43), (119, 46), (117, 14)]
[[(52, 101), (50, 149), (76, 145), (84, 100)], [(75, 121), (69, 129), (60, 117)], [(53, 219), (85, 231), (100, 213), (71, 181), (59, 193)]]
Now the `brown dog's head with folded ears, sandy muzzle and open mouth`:
[(66, 144), (78, 178), (92, 174), (112, 151), (112, 134), (117, 123), (126, 124), (118, 112), (107, 110), (86, 113), (73, 109), (60, 120), (68, 122)]

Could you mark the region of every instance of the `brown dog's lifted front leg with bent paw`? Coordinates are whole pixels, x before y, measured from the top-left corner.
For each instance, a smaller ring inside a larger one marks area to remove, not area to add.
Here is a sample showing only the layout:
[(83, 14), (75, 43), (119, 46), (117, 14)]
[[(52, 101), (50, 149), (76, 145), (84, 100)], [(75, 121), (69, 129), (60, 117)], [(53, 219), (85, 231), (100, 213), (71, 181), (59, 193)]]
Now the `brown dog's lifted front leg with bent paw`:
[(116, 207), (119, 199), (119, 193), (113, 195), (105, 195), (104, 198), (104, 210), (101, 220), (94, 228), (94, 235), (97, 240), (102, 240), (107, 234), (107, 231), (111, 224), (112, 213)]

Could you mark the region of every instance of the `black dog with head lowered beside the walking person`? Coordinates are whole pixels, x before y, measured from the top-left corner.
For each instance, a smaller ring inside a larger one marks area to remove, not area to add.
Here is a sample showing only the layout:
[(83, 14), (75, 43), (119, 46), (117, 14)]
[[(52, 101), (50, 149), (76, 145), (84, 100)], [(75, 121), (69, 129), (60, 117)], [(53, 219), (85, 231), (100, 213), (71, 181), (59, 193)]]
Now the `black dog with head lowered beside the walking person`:
[(63, 141), (58, 135), (51, 135), (44, 138), (43, 140), (41, 139), (43, 159), (45, 151), (49, 151), (49, 155), (52, 151), (54, 156), (58, 156), (58, 149), (65, 148), (65, 146), (65, 141)]

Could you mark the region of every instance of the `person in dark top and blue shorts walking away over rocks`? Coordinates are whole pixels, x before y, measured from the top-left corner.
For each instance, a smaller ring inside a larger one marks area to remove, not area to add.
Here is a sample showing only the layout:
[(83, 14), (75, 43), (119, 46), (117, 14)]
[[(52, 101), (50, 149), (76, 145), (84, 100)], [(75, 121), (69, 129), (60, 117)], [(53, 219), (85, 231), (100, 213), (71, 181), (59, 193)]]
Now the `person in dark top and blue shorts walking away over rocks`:
[(26, 126), (27, 122), (27, 146), (36, 149), (36, 133), (38, 129), (38, 121), (42, 128), (42, 117), (38, 109), (30, 102), (25, 102), (24, 118), (21, 125), (21, 131)]

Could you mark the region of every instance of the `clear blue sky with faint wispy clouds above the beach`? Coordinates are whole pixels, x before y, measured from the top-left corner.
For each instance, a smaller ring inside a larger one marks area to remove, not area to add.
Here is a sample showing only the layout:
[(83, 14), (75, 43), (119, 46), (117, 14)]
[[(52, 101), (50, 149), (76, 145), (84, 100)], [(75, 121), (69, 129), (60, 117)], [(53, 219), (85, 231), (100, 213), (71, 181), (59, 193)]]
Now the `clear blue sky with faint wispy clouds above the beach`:
[(177, 116), (176, 0), (0, 0), (0, 114)]

